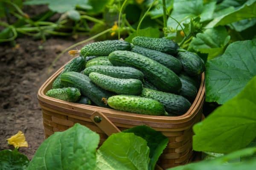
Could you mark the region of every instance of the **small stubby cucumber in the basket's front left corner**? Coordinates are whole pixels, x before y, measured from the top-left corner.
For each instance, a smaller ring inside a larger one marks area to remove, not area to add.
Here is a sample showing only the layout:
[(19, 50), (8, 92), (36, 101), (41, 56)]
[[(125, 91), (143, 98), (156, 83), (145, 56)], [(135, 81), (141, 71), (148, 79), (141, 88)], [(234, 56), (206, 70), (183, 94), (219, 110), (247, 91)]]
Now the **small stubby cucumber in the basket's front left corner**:
[(67, 102), (76, 102), (81, 93), (78, 88), (54, 88), (47, 91), (45, 95)]

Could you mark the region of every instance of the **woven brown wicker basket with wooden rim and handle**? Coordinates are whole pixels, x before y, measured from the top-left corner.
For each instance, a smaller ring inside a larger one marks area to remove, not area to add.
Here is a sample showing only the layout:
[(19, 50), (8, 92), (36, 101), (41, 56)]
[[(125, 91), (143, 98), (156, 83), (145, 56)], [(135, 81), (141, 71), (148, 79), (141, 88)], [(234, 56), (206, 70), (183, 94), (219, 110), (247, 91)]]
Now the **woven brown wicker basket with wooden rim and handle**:
[[(46, 96), (46, 92), (52, 87), (52, 82), (60, 74), (63, 67), (47, 79), (38, 91), (38, 101), (43, 113), (45, 138), (54, 132), (66, 130), (75, 123), (80, 123), (97, 132), (100, 136), (100, 144), (102, 144), (111, 133), (137, 125), (148, 125), (161, 131), (163, 135), (169, 138), (169, 144), (157, 163), (161, 168), (166, 169), (186, 164), (192, 160), (192, 125), (199, 122), (202, 117), (205, 92), (204, 73), (201, 76), (201, 85), (191, 108), (182, 116), (169, 117), (116, 111), (65, 102)], [(94, 122), (93, 116), (97, 114), (103, 116), (105, 121)], [(160, 169), (159, 166), (158, 169)]]

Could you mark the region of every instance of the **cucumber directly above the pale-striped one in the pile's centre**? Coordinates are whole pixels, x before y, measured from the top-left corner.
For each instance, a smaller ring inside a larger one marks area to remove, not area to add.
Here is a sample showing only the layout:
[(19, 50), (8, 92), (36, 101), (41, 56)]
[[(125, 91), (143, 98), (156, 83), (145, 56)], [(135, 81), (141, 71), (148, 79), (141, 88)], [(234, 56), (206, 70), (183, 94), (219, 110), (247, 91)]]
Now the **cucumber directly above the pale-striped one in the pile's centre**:
[(143, 82), (143, 73), (131, 67), (116, 67), (110, 65), (93, 65), (84, 69), (84, 74), (89, 75), (91, 72), (104, 74), (119, 79), (139, 79)]

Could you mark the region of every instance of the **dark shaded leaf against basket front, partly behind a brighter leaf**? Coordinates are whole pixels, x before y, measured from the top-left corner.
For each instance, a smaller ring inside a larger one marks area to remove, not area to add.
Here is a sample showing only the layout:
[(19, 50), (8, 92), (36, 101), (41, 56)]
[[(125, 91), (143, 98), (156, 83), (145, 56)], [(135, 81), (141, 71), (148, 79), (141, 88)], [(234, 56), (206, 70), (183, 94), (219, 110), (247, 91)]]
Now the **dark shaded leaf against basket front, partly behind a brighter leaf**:
[(140, 136), (147, 141), (148, 147), (150, 149), (149, 153), (149, 170), (154, 170), (159, 156), (163, 153), (166, 148), (169, 139), (164, 136), (161, 132), (148, 127), (148, 126), (136, 126), (123, 132), (134, 133), (136, 136)]

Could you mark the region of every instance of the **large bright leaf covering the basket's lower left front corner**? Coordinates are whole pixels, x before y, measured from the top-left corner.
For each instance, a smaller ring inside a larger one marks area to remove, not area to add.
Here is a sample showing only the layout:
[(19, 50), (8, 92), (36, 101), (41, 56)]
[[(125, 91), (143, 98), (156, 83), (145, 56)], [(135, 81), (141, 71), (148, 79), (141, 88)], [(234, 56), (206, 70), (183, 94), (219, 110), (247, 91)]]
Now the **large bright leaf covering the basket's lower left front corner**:
[(28, 170), (93, 170), (99, 135), (76, 124), (64, 132), (55, 132), (35, 153)]

